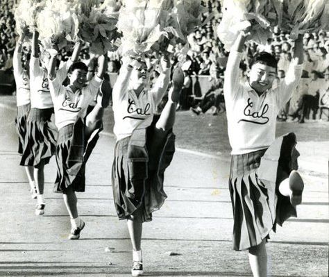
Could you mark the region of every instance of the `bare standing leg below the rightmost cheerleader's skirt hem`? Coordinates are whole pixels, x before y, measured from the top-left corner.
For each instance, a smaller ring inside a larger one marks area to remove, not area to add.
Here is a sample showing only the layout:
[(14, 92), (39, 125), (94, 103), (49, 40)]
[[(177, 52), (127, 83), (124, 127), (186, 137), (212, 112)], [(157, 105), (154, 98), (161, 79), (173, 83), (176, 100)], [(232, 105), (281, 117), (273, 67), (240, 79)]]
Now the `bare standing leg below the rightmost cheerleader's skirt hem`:
[(248, 257), (254, 277), (267, 277), (267, 252), (265, 240), (249, 249)]

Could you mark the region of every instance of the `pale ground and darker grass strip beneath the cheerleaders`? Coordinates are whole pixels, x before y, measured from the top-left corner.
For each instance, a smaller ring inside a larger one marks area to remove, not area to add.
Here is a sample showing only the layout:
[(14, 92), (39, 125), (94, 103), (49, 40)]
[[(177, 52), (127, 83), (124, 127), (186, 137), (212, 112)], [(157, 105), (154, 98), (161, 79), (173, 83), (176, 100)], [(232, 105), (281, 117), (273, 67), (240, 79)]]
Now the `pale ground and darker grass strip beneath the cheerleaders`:
[[(78, 194), (86, 222), (81, 240), (66, 240), (69, 218), (52, 192), (56, 165), (46, 174), (46, 213), (35, 201), (17, 155), (15, 102), (0, 96), (0, 276), (129, 276), (130, 242), (112, 201), (112, 113), (87, 167), (87, 190)], [(305, 180), (298, 218), (289, 219), (268, 246), (271, 276), (328, 276), (329, 124), (279, 123), (294, 131)], [(233, 215), (228, 193), (229, 146), (225, 115), (178, 112), (178, 150), (166, 171), (168, 199), (144, 224), (146, 276), (251, 276), (246, 252), (232, 250)], [(105, 251), (105, 250), (108, 251)], [(167, 252), (177, 255), (168, 255)]]

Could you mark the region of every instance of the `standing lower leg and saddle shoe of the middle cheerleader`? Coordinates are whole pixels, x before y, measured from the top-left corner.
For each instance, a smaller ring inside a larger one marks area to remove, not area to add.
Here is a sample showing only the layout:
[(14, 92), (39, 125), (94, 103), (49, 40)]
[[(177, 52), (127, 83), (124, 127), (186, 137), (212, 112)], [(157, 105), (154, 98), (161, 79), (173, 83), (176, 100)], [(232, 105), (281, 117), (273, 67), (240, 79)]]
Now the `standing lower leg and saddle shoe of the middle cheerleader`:
[(76, 198), (76, 192), (74, 192), (71, 186), (67, 187), (63, 192), (63, 199), (71, 219), (72, 228), (69, 240), (78, 240), (81, 230), (85, 227), (85, 222), (78, 215), (78, 199)]

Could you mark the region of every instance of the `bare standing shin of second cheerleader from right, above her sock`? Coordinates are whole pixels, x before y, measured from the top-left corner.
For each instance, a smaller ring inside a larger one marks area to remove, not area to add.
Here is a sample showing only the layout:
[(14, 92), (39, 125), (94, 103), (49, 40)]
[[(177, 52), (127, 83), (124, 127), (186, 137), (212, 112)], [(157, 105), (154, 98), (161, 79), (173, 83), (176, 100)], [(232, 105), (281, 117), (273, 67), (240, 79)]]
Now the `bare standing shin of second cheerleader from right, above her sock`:
[(131, 219), (127, 220), (128, 231), (130, 235), (133, 251), (140, 251), (142, 242), (142, 214), (140, 208), (134, 212)]

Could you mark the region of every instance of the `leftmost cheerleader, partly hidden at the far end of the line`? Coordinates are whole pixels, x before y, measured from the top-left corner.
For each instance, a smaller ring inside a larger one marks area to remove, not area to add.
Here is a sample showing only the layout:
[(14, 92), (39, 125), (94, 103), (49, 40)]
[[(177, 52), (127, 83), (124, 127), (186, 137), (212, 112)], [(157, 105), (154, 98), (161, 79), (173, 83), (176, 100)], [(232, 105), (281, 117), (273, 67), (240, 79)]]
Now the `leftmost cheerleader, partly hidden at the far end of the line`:
[[(26, 58), (25, 64), (22, 62), (22, 45), (24, 43), (25, 33), (19, 36), (16, 44), (12, 64), (14, 67), (14, 76), (16, 82), (16, 101), (17, 101), (17, 118), (15, 120), (18, 133), (18, 153), (23, 154), (24, 138), (26, 135), (26, 119), (28, 112), (31, 110), (30, 101), (30, 80), (28, 77), (28, 63)], [(33, 166), (25, 166), (26, 176), (30, 184), (32, 199), (37, 198), (37, 189), (34, 183)]]

